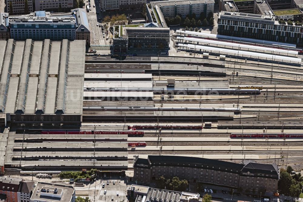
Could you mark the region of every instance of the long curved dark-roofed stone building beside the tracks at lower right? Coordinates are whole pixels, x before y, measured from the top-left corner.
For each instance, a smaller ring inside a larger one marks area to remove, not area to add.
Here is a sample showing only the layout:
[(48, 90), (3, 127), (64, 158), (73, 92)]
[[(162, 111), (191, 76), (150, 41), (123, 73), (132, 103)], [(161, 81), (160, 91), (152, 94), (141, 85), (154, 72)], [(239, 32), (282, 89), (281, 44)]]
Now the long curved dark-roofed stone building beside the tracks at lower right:
[(148, 156), (147, 159), (136, 157), (134, 176), (131, 180), (144, 184), (154, 182), (160, 176), (165, 178), (177, 176), (193, 183), (276, 192), (279, 170), (276, 164), (261, 164), (247, 160), (243, 163), (231, 163), (197, 157)]

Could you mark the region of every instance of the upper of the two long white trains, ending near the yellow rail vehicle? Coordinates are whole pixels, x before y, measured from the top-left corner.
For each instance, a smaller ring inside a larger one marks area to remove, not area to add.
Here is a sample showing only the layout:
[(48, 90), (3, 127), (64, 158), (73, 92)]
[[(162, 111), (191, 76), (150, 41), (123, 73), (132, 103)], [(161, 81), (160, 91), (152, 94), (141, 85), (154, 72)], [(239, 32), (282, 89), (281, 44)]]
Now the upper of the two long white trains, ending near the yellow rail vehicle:
[(219, 89), (219, 88), (84, 88), (84, 91), (119, 91), (119, 92), (137, 92), (147, 91), (154, 93), (261, 93), (259, 89)]

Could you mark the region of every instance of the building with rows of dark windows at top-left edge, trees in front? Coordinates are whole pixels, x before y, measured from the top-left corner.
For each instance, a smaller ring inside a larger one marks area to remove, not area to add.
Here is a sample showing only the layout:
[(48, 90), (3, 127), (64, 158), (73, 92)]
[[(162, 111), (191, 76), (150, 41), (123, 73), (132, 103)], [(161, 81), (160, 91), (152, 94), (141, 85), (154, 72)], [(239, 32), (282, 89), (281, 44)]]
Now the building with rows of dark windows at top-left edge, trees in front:
[[(22, 0), (6, 0), (6, 8), (7, 12), (11, 13), (11, 8), (9, 6), (9, 2), (12, 2), (12, 13), (13, 15), (22, 15), (22, 14), (28, 14), (25, 13), (25, 1)], [(34, 12), (35, 8), (33, 7), (34, 0), (28, 0), (28, 12)]]

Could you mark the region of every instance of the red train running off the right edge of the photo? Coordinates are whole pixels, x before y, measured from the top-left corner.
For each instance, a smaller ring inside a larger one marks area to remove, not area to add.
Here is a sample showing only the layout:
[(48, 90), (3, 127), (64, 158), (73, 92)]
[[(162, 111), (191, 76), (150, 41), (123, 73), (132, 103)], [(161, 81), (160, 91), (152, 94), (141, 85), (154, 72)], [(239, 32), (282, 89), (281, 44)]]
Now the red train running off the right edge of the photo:
[(303, 133), (231, 133), (231, 138), (303, 138)]

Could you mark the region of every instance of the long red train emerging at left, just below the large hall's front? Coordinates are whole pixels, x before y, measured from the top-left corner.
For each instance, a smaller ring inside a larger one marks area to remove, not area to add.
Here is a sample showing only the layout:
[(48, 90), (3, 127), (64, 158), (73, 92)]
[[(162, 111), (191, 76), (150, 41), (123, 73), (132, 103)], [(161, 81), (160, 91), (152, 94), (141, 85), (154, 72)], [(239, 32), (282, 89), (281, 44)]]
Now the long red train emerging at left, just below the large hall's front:
[[(113, 126), (114, 127), (114, 126)], [(43, 130), (41, 134), (126, 134), (144, 135), (144, 131), (125, 131), (125, 130)]]

